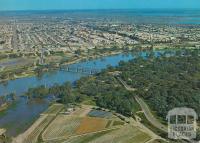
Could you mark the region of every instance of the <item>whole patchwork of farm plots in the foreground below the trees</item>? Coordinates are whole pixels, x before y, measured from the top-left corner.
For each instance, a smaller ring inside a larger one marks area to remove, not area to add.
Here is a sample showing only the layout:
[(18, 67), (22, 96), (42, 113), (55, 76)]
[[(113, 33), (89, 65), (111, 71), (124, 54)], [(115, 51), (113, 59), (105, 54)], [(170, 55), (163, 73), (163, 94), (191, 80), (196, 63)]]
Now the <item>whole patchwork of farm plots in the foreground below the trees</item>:
[(50, 106), (15, 143), (144, 143), (151, 139), (110, 112), (85, 105), (70, 113), (64, 110), (62, 104)]

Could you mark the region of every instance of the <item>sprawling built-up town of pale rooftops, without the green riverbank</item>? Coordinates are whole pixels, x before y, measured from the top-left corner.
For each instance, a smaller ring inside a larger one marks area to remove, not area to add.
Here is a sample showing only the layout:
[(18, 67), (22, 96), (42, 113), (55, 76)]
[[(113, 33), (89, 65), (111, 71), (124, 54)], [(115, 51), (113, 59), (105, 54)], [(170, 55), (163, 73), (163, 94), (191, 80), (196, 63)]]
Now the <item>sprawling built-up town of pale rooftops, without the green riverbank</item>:
[[(61, 18), (60, 18), (61, 17)], [(40, 18), (40, 17), (39, 17)], [(47, 51), (75, 53), (95, 48), (199, 47), (200, 27), (197, 25), (130, 24), (93, 19), (69, 19), (64, 15), (35, 21), (12, 18), (0, 22), (0, 50), (28, 55)], [(183, 43), (184, 42), (184, 43)], [(2, 58), (2, 57), (1, 57)]]

